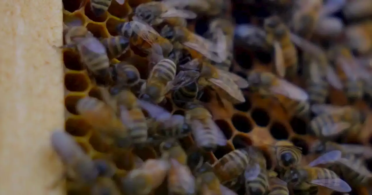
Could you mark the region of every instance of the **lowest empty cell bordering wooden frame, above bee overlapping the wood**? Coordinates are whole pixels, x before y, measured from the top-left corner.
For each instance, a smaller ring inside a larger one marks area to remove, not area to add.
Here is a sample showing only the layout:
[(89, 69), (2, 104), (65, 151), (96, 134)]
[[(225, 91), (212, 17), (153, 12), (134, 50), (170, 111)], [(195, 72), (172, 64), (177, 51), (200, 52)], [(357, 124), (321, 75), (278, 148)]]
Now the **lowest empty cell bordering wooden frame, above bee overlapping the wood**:
[(65, 130), (73, 136), (85, 136), (91, 126), (82, 118), (68, 118), (65, 121)]

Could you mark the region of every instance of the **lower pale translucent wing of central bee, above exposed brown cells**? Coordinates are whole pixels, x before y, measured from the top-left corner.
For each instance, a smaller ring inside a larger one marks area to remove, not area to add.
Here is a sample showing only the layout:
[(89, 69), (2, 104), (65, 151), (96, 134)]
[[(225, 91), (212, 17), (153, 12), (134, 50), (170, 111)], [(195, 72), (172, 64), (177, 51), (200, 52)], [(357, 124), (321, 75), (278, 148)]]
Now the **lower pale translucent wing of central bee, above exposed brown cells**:
[(222, 90), (222, 96), (230, 97), (233, 104), (239, 104), (246, 101), (243, 92), (231, 78), (225, 77), (223, 81), (220, 79), (210, 78), (208, 81)]

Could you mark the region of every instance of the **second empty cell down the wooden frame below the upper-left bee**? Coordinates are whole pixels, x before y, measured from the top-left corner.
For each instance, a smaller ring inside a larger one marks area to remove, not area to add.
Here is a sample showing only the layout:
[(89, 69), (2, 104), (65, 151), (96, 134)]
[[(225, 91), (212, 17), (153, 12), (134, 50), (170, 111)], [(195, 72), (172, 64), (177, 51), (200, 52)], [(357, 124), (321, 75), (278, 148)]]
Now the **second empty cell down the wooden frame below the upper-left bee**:
[(82, 72), (68, 72), (65, 87), (68, 91), (85, 91), (89, 87), (89, 78)]

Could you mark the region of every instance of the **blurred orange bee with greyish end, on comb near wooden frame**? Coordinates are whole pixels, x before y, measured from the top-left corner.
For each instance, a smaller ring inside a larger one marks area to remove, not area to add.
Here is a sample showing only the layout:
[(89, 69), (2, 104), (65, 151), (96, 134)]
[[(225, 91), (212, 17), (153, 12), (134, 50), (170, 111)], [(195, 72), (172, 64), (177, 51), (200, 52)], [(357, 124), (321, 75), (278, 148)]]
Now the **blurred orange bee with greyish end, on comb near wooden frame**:
[(128, 129), (116, 115), (116, 108), (92, 97), (78, 100), (77, 112), (99, 132), (109, 144), (125, 147), (128, 144)]

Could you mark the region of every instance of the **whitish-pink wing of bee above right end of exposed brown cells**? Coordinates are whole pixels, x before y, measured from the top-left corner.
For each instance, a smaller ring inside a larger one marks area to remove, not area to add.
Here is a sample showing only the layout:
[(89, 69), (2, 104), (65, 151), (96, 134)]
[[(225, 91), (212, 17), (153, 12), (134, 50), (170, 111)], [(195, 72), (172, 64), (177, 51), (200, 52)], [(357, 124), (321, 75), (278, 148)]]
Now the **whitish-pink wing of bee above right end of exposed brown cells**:
[(272, 86), (270, 91), (299, 101), (307, 101), (309, 98), (306, 91), (281, 78), (278, 78), (278, 83)]

